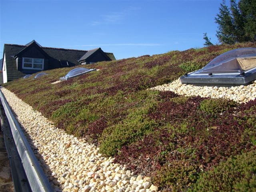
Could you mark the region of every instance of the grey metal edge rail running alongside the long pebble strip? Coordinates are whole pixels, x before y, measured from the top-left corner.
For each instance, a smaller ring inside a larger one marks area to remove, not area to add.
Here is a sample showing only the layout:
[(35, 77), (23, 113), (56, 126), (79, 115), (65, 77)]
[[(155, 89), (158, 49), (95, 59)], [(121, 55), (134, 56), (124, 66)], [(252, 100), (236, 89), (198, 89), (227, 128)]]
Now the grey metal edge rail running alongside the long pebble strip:
[(14, 142), (18, 153), (20, 155), (20, 159), (22, 160), (23, 168), (26, 172), (26, 176), (28, 178), (28, 182), (30, 184), (30, 188), (32, 191), (40, 191), (40, 192), (50, 192), (53, 191), (52, 186), (46, 175), (44, 174), (41, 166), (34, 155), (24, 133), (22, 132), (20, 125), (14, 118), (10, 110), (10, 106), (6, 102), (2, 91), (0, 90), (0, 98), (2, 101), (2, 105), (4, 107), (5, 114), (7, 116), (8, 122), (10, 124), (12, 136), (14, 138)]

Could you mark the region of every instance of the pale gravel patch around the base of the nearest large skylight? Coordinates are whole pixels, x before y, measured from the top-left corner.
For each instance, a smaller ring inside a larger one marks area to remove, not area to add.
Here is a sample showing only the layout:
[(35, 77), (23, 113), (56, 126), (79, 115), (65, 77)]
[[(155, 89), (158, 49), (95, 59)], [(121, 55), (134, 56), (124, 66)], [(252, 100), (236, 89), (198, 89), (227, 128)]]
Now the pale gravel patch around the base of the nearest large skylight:
[(180, 80), (150, 88), (152, 90), (173, 91), (179, 95), (226, 98), (236, 102), (248, 102), (256, 98), (256, 81), (248, 86), (217, 87), (181, 84)]

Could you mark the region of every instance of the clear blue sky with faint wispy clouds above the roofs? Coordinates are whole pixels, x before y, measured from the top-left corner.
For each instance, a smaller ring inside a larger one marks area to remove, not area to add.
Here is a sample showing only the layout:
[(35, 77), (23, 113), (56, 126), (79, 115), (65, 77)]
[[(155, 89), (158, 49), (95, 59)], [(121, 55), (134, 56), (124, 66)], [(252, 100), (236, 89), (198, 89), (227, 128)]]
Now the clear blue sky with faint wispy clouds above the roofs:
[(0, 0), (4, 44), (102, 48), (116, 59), (204, 47), (222, 0)]

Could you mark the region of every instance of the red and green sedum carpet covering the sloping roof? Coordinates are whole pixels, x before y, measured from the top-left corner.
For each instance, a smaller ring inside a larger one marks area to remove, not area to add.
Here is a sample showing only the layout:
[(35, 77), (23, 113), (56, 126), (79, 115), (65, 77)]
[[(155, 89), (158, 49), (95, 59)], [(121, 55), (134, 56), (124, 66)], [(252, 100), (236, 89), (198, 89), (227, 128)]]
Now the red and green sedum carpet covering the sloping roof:
[[(84, 137), (162, 191), (255, 191), (256, 100), (185, 97), (148, 88), (255, 43), (209, 46), (87, 65), (4, 84), (69, 134)], [(227, 183), (226, 186), (223, 183)]]

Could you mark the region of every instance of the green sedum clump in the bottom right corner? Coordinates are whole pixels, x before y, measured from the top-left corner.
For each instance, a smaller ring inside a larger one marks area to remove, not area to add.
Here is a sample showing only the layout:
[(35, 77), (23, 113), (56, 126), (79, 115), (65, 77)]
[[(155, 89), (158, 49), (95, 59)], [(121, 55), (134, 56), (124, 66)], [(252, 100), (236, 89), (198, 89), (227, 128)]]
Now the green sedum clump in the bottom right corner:
[(256, 191), (256, 149), (228, 158), (226, 162), (200, 175), (193, 192)]

